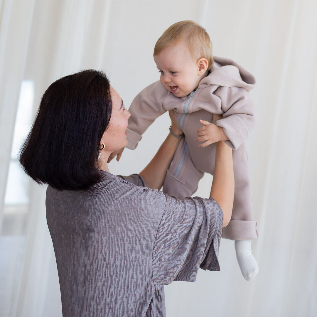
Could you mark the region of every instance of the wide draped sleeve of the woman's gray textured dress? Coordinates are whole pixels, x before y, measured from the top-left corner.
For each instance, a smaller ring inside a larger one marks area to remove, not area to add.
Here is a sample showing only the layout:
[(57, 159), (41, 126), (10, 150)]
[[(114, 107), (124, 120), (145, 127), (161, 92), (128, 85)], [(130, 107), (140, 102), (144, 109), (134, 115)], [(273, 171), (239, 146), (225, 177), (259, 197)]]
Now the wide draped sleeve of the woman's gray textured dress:
[(174, 280), (195, 281), (198, 268), (219, 271), (222, 224), (223, 212), (213, 198), (166, 195), (152, 254), (155, 289)]

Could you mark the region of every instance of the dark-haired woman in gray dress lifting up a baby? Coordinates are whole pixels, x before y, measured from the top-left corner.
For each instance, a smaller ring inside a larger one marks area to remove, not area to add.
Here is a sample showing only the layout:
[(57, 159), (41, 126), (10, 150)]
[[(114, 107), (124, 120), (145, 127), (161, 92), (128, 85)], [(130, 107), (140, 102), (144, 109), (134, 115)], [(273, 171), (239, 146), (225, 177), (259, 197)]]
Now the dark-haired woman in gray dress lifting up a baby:
[(22, 148), (24, 170), (49, 184), (63, 316), (165, 316), (164, 285), (194, 281), (199, 267), (219, 270), (233, 203), (231, 149), (217, 144), (213, 198), (169, 197), (158, 189), (182, 134), (175, 120), (139, 175), (109, 172), (111, 153), (127, 144), (129, 117), (105, 74), (82, 71), (47, 89)]

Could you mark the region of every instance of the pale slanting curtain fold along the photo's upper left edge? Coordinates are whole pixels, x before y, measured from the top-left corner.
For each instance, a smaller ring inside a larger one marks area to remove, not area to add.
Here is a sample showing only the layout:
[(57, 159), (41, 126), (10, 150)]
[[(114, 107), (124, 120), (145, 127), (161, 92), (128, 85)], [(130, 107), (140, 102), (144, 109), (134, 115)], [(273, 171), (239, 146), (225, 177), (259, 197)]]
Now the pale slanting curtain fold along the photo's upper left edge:
[[(19, 92), (25, 68), (26, 54), (33, 17), (34, 0), (2, 3), (0, 28), (0, 202), (3, 201), (12, 138), (16, 121)], [(16, 23), (19, 23), (19, 28)], [(0, 213), (0, 225), (2, 212)]]

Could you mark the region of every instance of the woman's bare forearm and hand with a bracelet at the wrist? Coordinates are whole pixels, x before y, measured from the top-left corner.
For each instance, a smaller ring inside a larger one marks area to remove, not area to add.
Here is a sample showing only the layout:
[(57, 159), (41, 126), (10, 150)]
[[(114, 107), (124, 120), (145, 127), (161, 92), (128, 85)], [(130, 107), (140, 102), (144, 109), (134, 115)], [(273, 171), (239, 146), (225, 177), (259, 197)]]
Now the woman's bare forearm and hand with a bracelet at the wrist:
[[(172, 122), (172, 132), (176, 135), (182, 135), (183, 132), (180, 129), (178, 122), (175, 120), (173, 110), (170, 110), (169, 114)], [(171, 165), (171, 161), (179, 141), (180, 139), (169, 133), (151, 162), (143, 171), (140, 172), (140, 175), (144, 178), (147, 187), (158, 190), (161, 189), (166, 175), (166, 170)]]

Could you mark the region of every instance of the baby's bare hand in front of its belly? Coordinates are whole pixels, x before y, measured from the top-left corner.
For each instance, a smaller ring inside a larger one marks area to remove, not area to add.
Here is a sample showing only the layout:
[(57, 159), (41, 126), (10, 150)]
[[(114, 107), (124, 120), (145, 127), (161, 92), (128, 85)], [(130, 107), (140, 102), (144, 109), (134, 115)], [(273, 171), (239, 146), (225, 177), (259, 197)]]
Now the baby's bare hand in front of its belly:
[(195, 139), (197, 142), (205, 141), (204, 143), (199, 144), (200, 147), (205, 147), (212, 143), (216, 143), (218, 141), (227, 141), (229, 140), (226, 134), (223, 132), (223, 128), (216, 126), (215, 123), (217, 120), (222, 118), (219, 114), (212, 115), (212, 122), (208, 122), (206, 120), (199, 120), (203, 126), (201, 126), (197, 130), (198, 138)]

